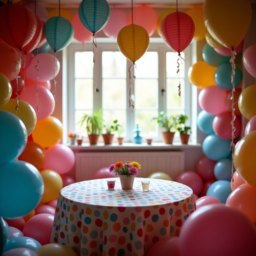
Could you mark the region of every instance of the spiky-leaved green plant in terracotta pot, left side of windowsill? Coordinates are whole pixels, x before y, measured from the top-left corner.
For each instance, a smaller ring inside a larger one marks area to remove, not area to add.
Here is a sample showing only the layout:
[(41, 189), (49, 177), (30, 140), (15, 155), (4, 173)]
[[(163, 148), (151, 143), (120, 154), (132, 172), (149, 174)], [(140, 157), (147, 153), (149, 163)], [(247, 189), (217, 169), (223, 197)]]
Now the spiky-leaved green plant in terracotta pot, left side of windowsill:
[(84, 114), (78, 123), (80, 123), (81, 126), (83, 126), (83, 124), (86, 125), (89, 143), (91, 145), (97, 144), (104, 124), (102, 109), (97, 113), (92, 112), (91, 114)]

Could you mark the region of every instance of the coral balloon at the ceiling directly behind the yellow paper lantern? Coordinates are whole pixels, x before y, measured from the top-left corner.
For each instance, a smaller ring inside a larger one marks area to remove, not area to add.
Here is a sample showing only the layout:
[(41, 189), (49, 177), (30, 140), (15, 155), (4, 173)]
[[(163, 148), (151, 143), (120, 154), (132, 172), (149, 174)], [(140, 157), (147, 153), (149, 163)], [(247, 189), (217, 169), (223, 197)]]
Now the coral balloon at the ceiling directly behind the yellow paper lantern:
[(146, 29), (148, 36), (152, 36), (156, 31), (157, 20), (158, 16), (153, 8), (141, 5), (132, 9), (128, 17), (128, 24), (139, 25)]

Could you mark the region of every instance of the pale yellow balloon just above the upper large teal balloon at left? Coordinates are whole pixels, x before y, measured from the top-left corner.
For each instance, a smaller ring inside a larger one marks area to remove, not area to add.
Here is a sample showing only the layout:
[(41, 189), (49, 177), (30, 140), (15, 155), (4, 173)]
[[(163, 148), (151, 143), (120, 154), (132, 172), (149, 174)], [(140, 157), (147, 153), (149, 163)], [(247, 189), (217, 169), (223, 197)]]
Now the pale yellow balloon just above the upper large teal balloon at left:
[(5, 110), (18, 116), (25, 124), (28, 135), (34, 131), (37, 122), (36, 112), (28, 102), (18, 100), (17, 104), (17, 99), (10, 99), (0, 110)]

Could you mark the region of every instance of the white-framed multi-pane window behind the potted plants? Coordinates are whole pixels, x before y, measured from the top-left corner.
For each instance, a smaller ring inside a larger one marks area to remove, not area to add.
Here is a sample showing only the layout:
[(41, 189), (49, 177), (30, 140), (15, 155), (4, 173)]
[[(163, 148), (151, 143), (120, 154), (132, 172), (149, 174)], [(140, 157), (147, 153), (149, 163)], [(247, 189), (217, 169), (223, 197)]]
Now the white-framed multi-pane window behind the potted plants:
[[(153, 39), (160, 40), (154, 42)], [(78, 122), (84, 113), (100, 109), (104, 120), (119, 120), (125, 142), (133, 141), (137, 124), (142, 129), (142, 136), (150, 135), (155, 142), (162, 142), (161, 129), (152, 121), (160, 111), (186, 114), (189, 116), (187, 125), (191, 124), (191, 84), (186, 75), (191, 66), (190, 46), (182, 52), (185, 61), (178, 60), (177, 74), (177, 52), (167, 47), (162, 38), (153, 39), (150, 38), (147, 52), (135, 62), (135, 79), (131, 79), (133, 112), (128, 107), (132, 63), (119, 51), (116, 41), (102, 38), (97, 40), (97, 48), (88, 43), (72, 43), (67, 47), (68, 131), (87, 136)], [(181, 97), (178, 95), (179, 83)]]

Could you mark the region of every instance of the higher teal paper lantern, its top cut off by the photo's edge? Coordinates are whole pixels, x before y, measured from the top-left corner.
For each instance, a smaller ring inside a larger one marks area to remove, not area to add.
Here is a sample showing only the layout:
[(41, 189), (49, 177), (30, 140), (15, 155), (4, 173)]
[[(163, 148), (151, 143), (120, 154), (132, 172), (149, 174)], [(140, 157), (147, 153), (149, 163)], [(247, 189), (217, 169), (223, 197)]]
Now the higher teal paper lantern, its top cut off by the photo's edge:
[(95, 34), (108, 23), (110, 6), (106, 0), (83, 0), (78, 14), (84, 27)]

